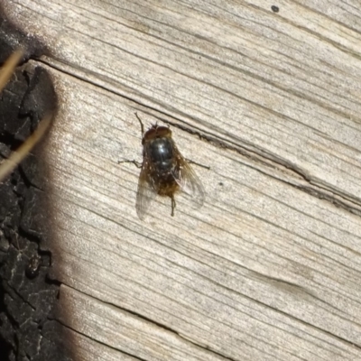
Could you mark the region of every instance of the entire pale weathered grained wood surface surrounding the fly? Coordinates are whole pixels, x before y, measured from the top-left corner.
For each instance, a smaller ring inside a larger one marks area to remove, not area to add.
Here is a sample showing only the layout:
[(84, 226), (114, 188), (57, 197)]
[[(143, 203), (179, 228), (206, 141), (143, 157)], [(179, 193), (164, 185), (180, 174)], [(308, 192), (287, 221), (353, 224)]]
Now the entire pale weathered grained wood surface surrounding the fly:
[[(361, 10), (271, 5), (8, 3), (60, 94), (54, 273), (79, 359), (361, 359)], [(203, 208), (136, 218), (135, 111), (210, 166)]]

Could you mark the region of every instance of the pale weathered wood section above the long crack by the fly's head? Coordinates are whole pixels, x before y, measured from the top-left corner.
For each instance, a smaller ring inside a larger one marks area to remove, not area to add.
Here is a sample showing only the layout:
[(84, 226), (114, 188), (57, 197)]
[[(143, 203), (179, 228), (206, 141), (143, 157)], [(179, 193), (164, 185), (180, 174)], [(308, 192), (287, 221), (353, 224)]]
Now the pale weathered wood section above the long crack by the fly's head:
[(361, 39), (353, 28), (297, 2), (282, 2), (279, 14), (264, 2), (52, 1), (51, 11), (49, 0), (10, 3), (49, 43), (52, 66), (69, 64), (359, 203)]

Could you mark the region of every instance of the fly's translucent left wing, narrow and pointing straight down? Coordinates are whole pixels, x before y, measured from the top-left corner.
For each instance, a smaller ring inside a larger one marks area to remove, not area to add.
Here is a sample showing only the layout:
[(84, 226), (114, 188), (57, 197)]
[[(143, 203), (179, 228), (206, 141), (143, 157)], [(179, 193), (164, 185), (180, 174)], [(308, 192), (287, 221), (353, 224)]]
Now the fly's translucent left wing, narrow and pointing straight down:
[(157, 190), (153, 187), (153, 180), (150, 176), (151, 164), (144, 157), (142, 171), (139, 175), (138, 190), (136, 192), (136, 213), (140, 219), (147, 214), (151, 201), (157, 195)]

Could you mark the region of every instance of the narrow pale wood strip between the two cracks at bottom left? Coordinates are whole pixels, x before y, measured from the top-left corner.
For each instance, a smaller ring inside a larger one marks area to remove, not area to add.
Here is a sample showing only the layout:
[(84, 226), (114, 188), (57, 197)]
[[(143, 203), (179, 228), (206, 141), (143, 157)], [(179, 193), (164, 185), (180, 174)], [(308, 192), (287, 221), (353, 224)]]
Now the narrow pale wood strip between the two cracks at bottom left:
[[(114, 350), (119, 350), (123, 355), (116, 355), (125, 357), (126, 360), (225, 360), (224, 357), (194, 345), (169, 329), (163, 329), (153, 322), (95, 300), (67, 286), (61, 287), (60, 310), (66, 314), (71, 310), (73, 318), (70, 319), (70, 323), (68, 317), (64, 320), (71, 328), (79, 329), (91, 339), (111, 346), (104, 350), (105, 357), (102, 356), (101, 359), (106, 359), (109, 351), (114, 353)], [(89, 322), (85, 323), (83, 319)], [(134, 355), (136, 358), (127, 358), (127, 355)]]

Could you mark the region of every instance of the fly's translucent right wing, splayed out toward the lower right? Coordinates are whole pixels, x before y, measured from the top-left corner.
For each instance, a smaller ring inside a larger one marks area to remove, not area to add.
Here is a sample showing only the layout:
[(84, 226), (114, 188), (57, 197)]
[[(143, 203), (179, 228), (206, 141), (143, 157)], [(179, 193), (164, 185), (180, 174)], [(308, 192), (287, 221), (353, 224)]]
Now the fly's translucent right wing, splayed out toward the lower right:
[(176, 146), (173, 146), (173, 153), (177, 158), (178, 167), (173, 168), (171, 175), (180, 186), (180, 189), (187, 193), (198, 207), (203, 206), (205, 190), (197, 174), (192, 170), (190, 164), (182, 157)]

